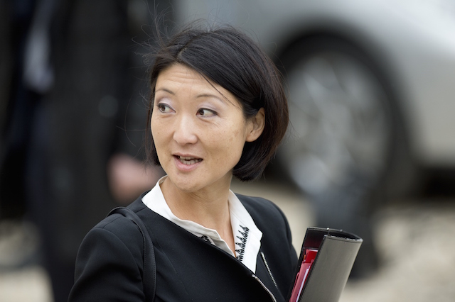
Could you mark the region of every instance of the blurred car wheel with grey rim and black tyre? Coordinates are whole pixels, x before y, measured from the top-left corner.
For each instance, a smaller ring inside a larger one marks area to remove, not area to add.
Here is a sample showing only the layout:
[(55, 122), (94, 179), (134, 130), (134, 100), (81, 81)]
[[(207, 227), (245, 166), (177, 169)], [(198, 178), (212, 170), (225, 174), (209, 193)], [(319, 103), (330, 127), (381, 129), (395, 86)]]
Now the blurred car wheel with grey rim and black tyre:
[(393, 194), (387, 188), (397, 181), (387, 179), (410, 171), (412, 160), (395, 93), (375, 60), (346, 40), (316, 36), (284, 52), (282, 65), (290, 125), (277, 157), (292, 181), (309, 196), (378, 186)]

